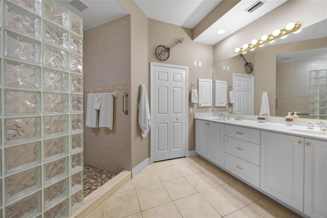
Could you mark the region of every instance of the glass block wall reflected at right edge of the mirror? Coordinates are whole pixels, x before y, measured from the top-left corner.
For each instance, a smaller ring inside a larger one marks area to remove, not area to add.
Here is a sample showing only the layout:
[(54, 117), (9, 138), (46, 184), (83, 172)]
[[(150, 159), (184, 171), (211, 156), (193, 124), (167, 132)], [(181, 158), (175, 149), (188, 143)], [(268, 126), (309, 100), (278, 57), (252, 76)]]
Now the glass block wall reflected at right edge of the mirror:
[(309, 72), (309, 115), (327, 119), (327, 70)]

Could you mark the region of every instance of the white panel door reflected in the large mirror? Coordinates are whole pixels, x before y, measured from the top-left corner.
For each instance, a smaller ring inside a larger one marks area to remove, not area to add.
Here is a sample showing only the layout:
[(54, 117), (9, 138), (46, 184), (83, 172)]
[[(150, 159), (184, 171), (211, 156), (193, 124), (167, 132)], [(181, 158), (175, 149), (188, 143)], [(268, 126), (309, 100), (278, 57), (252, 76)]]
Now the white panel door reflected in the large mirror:
[(254, 76), (233, 73), (234, 114), (253, 115)]

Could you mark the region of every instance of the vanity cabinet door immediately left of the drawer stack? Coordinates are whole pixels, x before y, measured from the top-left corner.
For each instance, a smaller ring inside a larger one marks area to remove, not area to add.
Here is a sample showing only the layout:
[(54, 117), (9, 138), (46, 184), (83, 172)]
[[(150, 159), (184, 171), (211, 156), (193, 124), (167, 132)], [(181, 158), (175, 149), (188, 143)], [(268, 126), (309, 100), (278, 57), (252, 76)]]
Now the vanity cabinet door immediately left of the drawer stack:
[(224, 124), (208, 122), (208, 159), (224, 167)]

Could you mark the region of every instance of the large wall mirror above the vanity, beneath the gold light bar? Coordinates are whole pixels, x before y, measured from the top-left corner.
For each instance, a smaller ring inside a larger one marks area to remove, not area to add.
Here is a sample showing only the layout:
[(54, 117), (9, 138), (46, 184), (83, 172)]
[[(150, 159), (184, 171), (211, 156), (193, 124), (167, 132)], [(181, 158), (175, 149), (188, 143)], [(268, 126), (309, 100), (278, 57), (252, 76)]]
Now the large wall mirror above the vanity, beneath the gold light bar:
[[(244, 54), (246, 61), (253, 63), (251, 74), (245, 72), (240, 55), (214, 64), (213, 80), (227, 81), (228, 90), (235, 90), (233, 74), (254, 76), (254, 115), (260, 114), (262, 95), (267, 92), (271, 116), (300, 112), (302, 118), (327, 119), (327, 84), (323, 84), (327, 78), (317, 78), (324, 75), (319, 70), (327, 69), (326, 37), (327, 19)], [(214, 111), (231, 113), (235, 107), (236, 103), (227, 103)]]

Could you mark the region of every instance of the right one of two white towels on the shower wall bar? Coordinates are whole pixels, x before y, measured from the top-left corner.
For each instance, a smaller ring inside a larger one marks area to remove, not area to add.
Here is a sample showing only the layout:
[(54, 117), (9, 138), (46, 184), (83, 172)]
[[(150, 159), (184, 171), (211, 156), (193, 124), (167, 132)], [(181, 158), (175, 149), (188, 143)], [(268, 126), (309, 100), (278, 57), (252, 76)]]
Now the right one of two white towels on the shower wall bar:
[(111, 93), (101, 93), (101, 107), (99, 113), (99, 127), (112, 129), (113, 96)]

